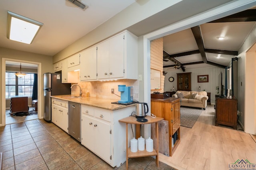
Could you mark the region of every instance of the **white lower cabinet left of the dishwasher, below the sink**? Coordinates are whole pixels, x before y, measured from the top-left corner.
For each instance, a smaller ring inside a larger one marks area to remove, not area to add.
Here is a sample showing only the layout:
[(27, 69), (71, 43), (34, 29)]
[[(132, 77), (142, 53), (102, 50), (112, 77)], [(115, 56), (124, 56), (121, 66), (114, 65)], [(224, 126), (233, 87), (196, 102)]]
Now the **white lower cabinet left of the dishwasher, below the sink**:
[[(55, 104), (56, 103), (56, 104)], [(68, 102), (52, 99), (52, 123), (68, 133)]]

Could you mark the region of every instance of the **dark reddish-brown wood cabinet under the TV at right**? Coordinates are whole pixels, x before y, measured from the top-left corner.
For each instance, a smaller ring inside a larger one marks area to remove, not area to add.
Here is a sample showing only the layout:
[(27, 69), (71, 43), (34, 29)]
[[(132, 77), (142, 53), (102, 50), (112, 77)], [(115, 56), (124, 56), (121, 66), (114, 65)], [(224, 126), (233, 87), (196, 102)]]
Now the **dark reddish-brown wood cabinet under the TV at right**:
[(215, 125), (237, 128), (237, 99), (216, 98)]

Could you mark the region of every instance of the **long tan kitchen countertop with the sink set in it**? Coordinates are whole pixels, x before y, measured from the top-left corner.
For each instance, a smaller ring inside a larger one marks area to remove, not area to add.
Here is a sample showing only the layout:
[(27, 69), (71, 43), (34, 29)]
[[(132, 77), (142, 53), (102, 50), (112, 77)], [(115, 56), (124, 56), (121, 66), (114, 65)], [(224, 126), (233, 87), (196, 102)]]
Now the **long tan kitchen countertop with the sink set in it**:
[(69, 102), (84, 104), (88, 106), (100, 107), (102, 109), (108, 109), (108, 110), (117, 110), (117, 109), (122, 109), (125, 107), (130, 107), (135, 105), (135, 104), (130, 104), (126, 106), (126, 105), (120, 105), (120, 104), (112, 104), (111, 102), (116, 102), (117, 100), (94, 98), (94, 97), (83, 97), (83, 96), (72, 98), (71, 95), (58, 95), (58, 96), (51, 96), (51, 98), (66, 100)]

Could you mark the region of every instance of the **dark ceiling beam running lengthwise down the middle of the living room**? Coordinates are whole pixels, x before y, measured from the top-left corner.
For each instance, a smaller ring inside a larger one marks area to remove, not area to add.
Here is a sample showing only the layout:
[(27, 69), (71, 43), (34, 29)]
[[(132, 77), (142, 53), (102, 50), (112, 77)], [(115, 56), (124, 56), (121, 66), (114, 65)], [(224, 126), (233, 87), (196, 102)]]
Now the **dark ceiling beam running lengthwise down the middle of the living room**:
[(199, 49), (200, 54), (202, 56), (202, 59), (203, 59), (204, 63), (207, 63), (206, 54), (205, 54), (205, 51), (204, 51), (204, 43), (203, 43), (203, 38), (202, 38), (202, 33), (201, 33), (201, 30), (200, 30), (200, 26), (197, 25), (195, 27), (192, 27), (191, 31), (192, 31), (195, 39), (196, 39), (196, 44), (198, 46), (198, 49)]

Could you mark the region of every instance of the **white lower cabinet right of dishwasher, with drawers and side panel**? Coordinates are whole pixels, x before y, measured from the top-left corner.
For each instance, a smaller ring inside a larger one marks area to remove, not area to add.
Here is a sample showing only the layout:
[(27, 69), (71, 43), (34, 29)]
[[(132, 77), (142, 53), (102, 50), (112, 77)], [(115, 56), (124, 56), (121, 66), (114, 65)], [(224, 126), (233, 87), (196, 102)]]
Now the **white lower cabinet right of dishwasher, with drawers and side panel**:
[(126, 161), (126, 125), (118, 120), (133, 111), (135, 106), (108, 110), (81, 105), (81, 144), (112, 167), (121, 166)]

